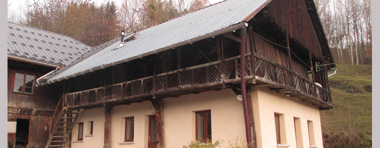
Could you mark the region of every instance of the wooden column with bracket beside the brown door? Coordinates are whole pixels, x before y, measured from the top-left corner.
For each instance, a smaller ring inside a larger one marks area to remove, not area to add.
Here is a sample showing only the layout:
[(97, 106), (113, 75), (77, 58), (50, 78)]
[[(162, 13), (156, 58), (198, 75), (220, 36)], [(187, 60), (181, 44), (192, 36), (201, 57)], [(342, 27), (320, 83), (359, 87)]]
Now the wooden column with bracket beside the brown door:
[(155, 108), (157, 148), (165, 148), (162, 99), (150, 100)]

